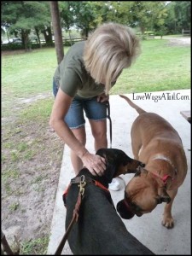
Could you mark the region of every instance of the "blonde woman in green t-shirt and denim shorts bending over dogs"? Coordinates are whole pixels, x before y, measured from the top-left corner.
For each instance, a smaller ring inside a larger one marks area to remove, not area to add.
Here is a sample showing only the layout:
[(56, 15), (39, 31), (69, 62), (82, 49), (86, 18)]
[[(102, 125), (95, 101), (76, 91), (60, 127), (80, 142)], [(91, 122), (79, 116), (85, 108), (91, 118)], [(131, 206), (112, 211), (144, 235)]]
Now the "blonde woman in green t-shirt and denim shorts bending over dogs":
[(76, 175), (83, 166), (93, 175), (102, 176), (105, 171), (105, 159), (85, 148), (84, 112), (95, 150), (108, 148), (108, 92), (139, 52), (139, 40), (130, 27), (107, 23), (96, 28), (87, 41), (73, 44), (55, 70), (55, 103), (49, 124), (71, 148)]

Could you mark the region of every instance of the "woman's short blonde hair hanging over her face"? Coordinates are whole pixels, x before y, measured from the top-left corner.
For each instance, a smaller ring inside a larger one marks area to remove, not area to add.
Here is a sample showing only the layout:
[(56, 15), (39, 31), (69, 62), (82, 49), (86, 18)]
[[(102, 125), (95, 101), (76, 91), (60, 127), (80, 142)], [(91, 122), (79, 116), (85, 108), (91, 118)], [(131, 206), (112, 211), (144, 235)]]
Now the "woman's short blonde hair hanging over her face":
[(105, 23), (90, 33), (84, 47), (84, 66), (97, 84), (105, 79), (105, 93), (123, 68), (140, 54), (139, 38), (131, 27)]

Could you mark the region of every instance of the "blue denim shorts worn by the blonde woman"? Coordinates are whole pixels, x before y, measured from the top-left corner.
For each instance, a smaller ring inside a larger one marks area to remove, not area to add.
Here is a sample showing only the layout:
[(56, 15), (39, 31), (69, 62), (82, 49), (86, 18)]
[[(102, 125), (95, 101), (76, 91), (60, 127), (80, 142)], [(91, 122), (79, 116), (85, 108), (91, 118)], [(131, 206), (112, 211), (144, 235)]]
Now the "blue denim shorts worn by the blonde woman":
[[(56, 96), (58, 88), (53, 82), (53, 93)], [(84, 126), (84, 113), (88, 119), (100, 121), (107, 119), (107, 102), (97, 102), (97, 96), (91, 98), (84, 98), (81, 96), (74, 96), (73, 102), (65, 117), (65, 122), (71, 129), (76, 129)]]

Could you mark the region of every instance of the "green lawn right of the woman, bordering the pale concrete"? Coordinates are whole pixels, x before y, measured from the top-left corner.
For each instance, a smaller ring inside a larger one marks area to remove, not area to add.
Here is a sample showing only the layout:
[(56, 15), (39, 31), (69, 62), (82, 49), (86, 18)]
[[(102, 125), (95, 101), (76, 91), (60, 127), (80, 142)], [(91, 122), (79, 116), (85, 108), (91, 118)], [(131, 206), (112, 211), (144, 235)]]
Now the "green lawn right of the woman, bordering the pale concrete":
[(120, 75), (112, 94), (190, 88), (190, 47), (145, 40), (142, 55)]

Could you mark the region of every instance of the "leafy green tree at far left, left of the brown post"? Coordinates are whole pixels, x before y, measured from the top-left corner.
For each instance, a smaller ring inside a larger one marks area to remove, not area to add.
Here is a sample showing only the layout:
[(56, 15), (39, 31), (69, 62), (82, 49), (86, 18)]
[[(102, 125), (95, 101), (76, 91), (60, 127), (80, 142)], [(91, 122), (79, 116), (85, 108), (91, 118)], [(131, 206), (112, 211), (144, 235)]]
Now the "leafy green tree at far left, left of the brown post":
[(32, 29), (49, 26), (50, 15), (44, 2), (38, 1), (3, 1), (2, 25), (10, 34), (20, 36), (26, 50), (30, 47), (29, 34)]

